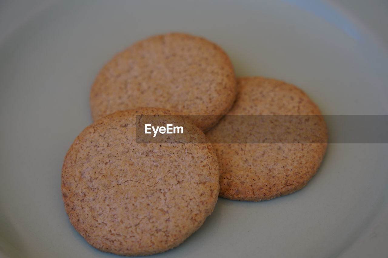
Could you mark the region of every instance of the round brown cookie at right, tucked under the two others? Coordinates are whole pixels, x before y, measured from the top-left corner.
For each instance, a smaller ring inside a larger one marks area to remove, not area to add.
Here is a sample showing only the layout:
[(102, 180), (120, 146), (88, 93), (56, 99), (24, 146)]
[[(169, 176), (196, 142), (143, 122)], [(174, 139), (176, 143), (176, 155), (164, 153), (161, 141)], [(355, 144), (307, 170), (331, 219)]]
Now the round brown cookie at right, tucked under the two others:
[[(296, 86), (274, 79), (237, 79), (237, 89), (236, 103), (228, 115), (206, 133), (220, 165), (220, 196), (261, 201), (301, 189), (317, 172), (326, 152), (327, 129), (319, 108)], [(292, 117), (298, 122), (308, 120), (312, 131), (291, 127), (281, 131), (280, 138), (311, 134), (316, 141), (265, 143), (263, 137), (255, 143), (255, 133), (270, 136), (274, 128), (268, 126), (270, 122), (250, 124), (249, 117), (269, 121), (287, 116), (233, 115), (298, 115)], [(238, 143), (233, 143), (234, 139), (239, 139)]]

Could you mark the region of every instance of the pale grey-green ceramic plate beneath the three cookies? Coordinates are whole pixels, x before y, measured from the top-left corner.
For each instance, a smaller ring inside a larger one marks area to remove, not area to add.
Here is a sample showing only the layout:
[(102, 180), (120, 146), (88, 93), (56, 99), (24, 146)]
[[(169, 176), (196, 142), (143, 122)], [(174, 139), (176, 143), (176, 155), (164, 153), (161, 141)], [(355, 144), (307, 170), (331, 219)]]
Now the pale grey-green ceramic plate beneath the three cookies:
[[(0, 256), (115, 257), (69, 223), (61, 166), (92, 122), (99, 69), (152, 34), (215, 41), (238, 76), (294, 83), (324, 114), (388, 114), (388, 3), (364, 2), (2, 1)], [(305, 188), (220, 199), (201, 229), (154, 257), (387, 257), (387, 154), (388, 144), (330, 144)]]

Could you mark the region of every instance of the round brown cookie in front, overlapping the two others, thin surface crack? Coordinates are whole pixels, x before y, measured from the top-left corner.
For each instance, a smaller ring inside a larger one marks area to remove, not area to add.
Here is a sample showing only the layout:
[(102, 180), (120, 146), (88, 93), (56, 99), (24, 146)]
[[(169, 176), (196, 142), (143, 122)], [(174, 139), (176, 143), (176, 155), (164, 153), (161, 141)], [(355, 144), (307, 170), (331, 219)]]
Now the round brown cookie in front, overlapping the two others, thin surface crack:
[(69, 220), (101, 251), (151, 255), (178, 246), (217, 202), (218, 162), (199, 128), (175, 116), (192, 139), (207, 143), (136, 142), (135, 115), (155, 114), (171, 112), (107, 115), (81, 132), (64, 159), (61, 190)]

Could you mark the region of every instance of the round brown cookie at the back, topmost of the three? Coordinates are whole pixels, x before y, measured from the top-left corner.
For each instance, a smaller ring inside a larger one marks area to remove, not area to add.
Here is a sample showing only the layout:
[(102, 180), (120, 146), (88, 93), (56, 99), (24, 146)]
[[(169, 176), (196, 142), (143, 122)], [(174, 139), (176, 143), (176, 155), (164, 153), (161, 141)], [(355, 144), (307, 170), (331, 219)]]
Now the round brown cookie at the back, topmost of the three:
[(137, 107), (204, 115), (189, 119), (208, 131), (235, 97), (226, 53), (204, 38), (171, 33), (139, 41), (113, 57), (92, 85), (90, 107), (94, 120)]

